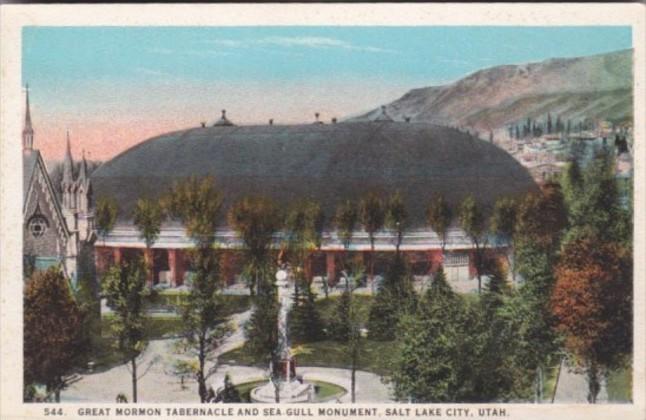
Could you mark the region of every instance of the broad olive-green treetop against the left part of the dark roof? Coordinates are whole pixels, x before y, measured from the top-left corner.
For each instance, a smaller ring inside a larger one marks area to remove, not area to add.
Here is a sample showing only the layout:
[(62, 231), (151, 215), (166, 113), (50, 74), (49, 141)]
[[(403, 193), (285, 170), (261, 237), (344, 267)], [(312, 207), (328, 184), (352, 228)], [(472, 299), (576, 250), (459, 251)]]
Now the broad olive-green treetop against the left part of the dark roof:
[(221, 206), (222, 195), (210, 176), (189, 177), (175, 183), (163, 203), (168, 213), (182, 222), (186, 235), (200, 248), (213, 244)]

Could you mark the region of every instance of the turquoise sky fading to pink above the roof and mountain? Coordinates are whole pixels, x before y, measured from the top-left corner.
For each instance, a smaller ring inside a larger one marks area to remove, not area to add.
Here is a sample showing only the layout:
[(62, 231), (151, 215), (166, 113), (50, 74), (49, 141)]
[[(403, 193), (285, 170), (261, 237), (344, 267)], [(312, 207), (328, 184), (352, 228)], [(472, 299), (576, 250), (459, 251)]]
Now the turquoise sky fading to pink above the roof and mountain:
[[(26, 27), (35, 147), (93, 160), (213, 123), (342, 119), (474, 71), (632, 47), (630, 27)], [(24, 113), (24, 110), (21, 110)]]

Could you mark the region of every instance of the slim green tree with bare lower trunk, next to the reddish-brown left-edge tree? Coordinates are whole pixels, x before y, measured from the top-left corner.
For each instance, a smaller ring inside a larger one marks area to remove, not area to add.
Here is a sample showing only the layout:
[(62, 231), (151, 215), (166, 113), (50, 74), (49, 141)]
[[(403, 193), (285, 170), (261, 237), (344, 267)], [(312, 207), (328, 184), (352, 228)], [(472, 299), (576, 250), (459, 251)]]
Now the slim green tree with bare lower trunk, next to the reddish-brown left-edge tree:
[(132, 401), (137, 402), (137, 381), (147, 372), (137, 373), (137, 358), (147, 345), (145, 264), (138, 259), (111, 267), (103, 279), (103, 293), (115, 312), (111, 327), (117, 337), (117, 347), (130, 361)]

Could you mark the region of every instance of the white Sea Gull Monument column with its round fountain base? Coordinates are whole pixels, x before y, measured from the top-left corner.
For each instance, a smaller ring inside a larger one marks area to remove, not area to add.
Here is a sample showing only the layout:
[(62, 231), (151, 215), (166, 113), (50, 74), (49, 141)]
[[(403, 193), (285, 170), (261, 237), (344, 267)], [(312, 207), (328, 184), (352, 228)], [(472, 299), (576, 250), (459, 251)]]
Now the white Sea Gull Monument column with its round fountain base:
[(285, 270), (281, 269), (276, 273), (275, 284), (278, 289), (278, 301), (280, 302), (277, 354), (280, 355), (280, 359), (275, 365), (269, 365), (272, 379), (251, 391), (250, 397), (254, 402), (276, 402), (276, 391), (278, 391), (281, 403), (303, 403), (312, 401), (314, 398), (314, 386), (296, 377), (296, 365), (289, 346), (287, 314), (292, 306), (293, 299), (288, 277), (289, 275)]

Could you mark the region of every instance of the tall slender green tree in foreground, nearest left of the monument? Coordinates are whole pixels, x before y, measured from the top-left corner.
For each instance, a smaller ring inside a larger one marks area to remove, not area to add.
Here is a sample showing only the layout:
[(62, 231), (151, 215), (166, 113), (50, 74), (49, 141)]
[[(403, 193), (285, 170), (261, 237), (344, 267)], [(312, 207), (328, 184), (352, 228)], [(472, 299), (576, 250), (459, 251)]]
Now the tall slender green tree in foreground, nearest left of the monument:
[(216, 371), (206, 363), (214, 360), (215, 351), (229, 332), (221, 296), (218, 255), (210, 248), (198, 248), (192, 253), (195, 270), (193, 284), (182, 306), (183, 338), (187, 348), (197, 357), (195, 376), (200, 402), (207, 402), (207, 380)]

